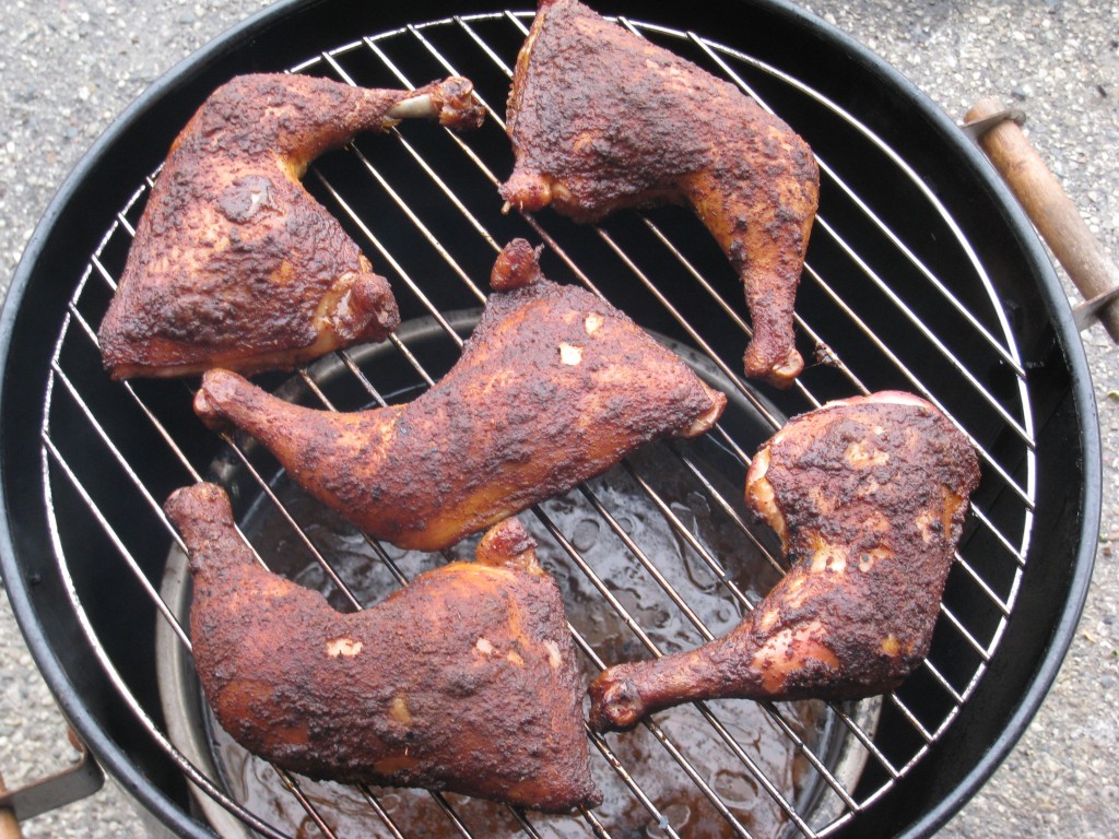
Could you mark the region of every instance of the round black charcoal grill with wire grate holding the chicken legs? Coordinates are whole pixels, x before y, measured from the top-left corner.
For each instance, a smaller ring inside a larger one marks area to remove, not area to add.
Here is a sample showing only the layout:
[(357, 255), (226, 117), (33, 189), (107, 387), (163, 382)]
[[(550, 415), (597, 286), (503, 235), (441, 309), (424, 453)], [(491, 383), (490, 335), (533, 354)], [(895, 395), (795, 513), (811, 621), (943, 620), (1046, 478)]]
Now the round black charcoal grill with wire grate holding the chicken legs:
[[(741, 290), (689, 214), (624, 214), (594, 228), (548, 211), (500, 214), (495, 186), (511, 169), (505, 96), (532, 11), (479, 2), (448, 17), (445, 4), (423, 0), (403, 10), (365, 6), (280, 3), (159, 82), (67, 181), (13, 280), (2, 332), (3, 572), (67, 717), (171, 831), (206, 836), (207, 814), (214, 821), (220, 811), (261, 833), (283, 833), (271, 811), (238, 799), (220, 767), (190, 753), (177, 734), (181, 720), (168, 718), (173, 704), (159, 663), (169, 643), (189, 677), (189, 639), (175, 602), (181, 584), (167, 579), (176, 573), (168, 562), (176, 537), (159, 505), (176, 487), (224, 479), (246, 520), (267, 510), (289, 528), (288, 541), (310, 555), (342, 606), (369, 601), (317, 547), (309, 513), (266, 455), (203, 428), (184, 383), (110, 383), (95, 329), (160, 159), (231, 75), (290, 69), (398, 87), (460, 73), (490, 110), (480, 132), (457, 138), (410, 125), (363, 136), (321, 159), (307, 178), (393, 282), (406, 328), (382, 348), (344, 352), (294, 377), (261, 377), (262, 384), (337, 409), (406, 398), (453, 362), (500, 246), (515, 236), (545, 244), (549, 276), (620, 305), (732, 397), (698, 447), (658, 444), (661, 460), (633, 458), (571, 501), (614, 540), (632, 572), (626, 579), (681, 616), (693, 644), (722, 631), (727, 616), (689, 602), (692, 590), (667, 568), (671, 557), (626, 526), (609, 503), (618, 484), (655, 511), (678, 557), (702, 577), (699, 587), (715, 588), (741, 612), (756, 597), (742, 582), (743, 556), (724, 553), (681, 509), (684, 499), (666, 494), (666, 473), (736, 534), (732, 545), (771, 566), (761, 574), (779, 562), (772, 537), (742, 508), (750, 454), (787, 417), (829, 398), (890, 387), (924, 396), (975, 442), (984, 481), (924, 666), (881, 703), (825, 706), (811, 725), (788, 706), (761, 708), (765, 736), (796, 755), (791, 786), (759, 761), (765, 743), (742, 742), (726, 725), (731, 706), (712, 703), (679, 718), (657, 717), (638, 735), (593, 738), (599, 771), (631, 798), (626, 820), (594, 811), (562, 823), (534, 813), (480, 816), (471, 802), (438, 794), (420, 794), (423, 805), (459, 836), (761, 836), (749, 802), (733, 792), (746, 783), (775, 812), (782, 835), (934, 830), (994, 771), (1055, 676), (1083, 603), (1098, 528), (1099, 439), (1085, 362), (1052, 268), (1013, 200), (919, 92), (790, 6), (600, 3), (623, 26), (742, 85), (818, 155), (820, 214), (797, 322), (800, 349), (815, 362), (790, 390), (774, 392), (737, 373), (749, 337)], [(22, 488), (30, 474), (38, 475), (35, 492)], [(572, 614), (590, 669), (665, 649), (627, 586), (594, 565), (576, 534), (556, 524), (555, 509), (544, 505), (526, 518), (567, 591), (595, 595), (586, 614)], [(420, 562), (376, 544), (367, 544), (367, 555), (387, 573), (385, 591)], [(581, 624), (587, 615), (619, 623), (622, 645), (589, 640)], [(158, 647), (157, 637), (170, 640)], [(194, 724), (206, 732), (205, 711), (197, 701), (192, 707)], [(704, 745), (681, 746), (677, 726), (697, 726)], [(841, 745), (833, 747), (837, 732)], [(623, 738), (634, 736), (657, 750), (671, 783), (650, 780), (619, 756)], [(699, 770), (709, 752), (722, 772)], [(283, 773), (271, 783), (293, 802), (299, 821), (345, 836), (332, 824), (333, 793)], [(674, 790), (686, 790), (703, 810), (683, 813)], [(426, 835), (399, 816), (395, 793), (347, 794), (367, 808), (368, 831)]]

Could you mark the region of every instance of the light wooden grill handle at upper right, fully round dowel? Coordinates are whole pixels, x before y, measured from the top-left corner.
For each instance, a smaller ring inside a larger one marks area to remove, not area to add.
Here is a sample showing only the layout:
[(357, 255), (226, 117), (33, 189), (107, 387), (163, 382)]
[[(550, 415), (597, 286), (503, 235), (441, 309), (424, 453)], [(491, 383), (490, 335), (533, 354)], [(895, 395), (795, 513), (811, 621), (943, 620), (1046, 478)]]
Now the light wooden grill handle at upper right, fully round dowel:
[[(1006, 113), (1003, 104), (985, 96), (971, 106), (965, 123), (999, 113)], [(1119, 287), (1119, 267), (1088, 229), (1076, 206), (1021, 126), (1013, 120), (1003, 120), (984, 131), (978, 142), (1084, 300), (1099, 303), (1097, 299), (1101, 295), (1113, 294)], [(1119, 343), (1119, 299), (1112, 296), (1098, 315), (1111, 340)]]

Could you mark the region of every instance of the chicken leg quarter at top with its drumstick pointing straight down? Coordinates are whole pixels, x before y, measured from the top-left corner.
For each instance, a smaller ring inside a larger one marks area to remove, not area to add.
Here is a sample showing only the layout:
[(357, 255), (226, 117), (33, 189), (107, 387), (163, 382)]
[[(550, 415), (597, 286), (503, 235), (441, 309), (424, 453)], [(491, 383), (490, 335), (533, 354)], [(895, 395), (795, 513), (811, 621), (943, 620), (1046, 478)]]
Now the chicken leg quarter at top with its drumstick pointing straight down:
[(793, 302), (819, 194), (811, 150), (734, 85), (577, 0), (540, 0), (517, 58), (501, 196), (576, 221), (687, 202), (745, 285), (747, 376), (789, 385)]

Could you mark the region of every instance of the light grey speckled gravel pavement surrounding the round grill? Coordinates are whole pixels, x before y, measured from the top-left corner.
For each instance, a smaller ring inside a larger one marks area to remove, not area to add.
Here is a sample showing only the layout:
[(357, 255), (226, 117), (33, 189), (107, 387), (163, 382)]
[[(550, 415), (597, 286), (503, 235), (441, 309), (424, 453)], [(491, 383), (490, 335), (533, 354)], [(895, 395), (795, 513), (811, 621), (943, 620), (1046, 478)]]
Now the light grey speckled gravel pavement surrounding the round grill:
[[(527, 4), (527, 3), (526, 3)], [(0, 282), (92, 141), (161, 73), (266, 2), (0, 3)], [(449, 4), (450, 6), (450, 4)], [(1027, 130), (1119, 258), (1119, 2), (812, 0), (952, 117), (985, 94)], [(1070, 286), (1071, 287), (1071, 286)], [(1119, 350), (1084, 333), (1104, 437), (1103, 524), (1089, 602), (1029, 730), (942, 837), (1116, 836), (1119, 812)], [(0, 773), (17, 785), (69, 760), (64, 728), (0, 597)], [(112, 786), (23, 824), (28, 837), (147, 836)]]

